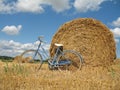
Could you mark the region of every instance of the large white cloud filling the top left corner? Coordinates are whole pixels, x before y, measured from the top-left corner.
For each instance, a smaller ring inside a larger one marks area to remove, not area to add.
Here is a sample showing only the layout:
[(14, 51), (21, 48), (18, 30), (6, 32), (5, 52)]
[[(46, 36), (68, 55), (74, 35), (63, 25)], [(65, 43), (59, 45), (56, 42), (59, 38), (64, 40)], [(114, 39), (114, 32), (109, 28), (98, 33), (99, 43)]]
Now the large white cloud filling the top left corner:
[(32, 12), (41, 13), (44, 9), (40, 6), (41, 0), (17, 0), (11, 1), (7, 0), (0, 1), (0, 13), (16, 13), (16, 12)]

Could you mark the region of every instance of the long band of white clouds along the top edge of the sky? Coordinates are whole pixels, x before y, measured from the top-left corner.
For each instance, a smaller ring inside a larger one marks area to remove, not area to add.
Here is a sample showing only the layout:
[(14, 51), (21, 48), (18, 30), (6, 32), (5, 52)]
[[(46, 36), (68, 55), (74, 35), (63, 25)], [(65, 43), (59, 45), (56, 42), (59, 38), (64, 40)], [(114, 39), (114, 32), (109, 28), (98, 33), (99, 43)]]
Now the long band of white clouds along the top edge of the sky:
[(64, 12), (75, 8), (78, 12), (97, 11), (101, 4), (111, 0), (0, 0), (0, 13), (17, 12), (42, 13), (45, 7), (51, 7), (56, 12)]

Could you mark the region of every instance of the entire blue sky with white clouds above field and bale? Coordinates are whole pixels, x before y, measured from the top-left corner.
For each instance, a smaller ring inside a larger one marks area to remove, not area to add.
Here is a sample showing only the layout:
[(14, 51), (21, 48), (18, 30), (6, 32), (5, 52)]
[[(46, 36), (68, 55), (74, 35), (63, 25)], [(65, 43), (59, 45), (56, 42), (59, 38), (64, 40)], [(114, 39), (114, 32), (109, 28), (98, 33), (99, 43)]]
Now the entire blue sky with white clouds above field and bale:
[(0, 55), (35, 48), (40, 35), (48, 49), (62, 24), (83, 17), (100, 20), (113, 32), (120, 57), (120, 0), (0, 0)]

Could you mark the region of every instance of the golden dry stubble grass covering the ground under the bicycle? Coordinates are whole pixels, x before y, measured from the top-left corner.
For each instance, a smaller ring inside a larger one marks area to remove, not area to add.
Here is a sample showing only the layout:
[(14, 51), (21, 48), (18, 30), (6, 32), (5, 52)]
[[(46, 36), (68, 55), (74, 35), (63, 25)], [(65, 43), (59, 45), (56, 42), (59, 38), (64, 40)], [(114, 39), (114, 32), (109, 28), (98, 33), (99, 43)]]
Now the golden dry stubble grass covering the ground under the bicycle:
[(44, 64), (0, 62), (0, 90), (120, 90), (120, 62), (107, 68), (83, 66), (81, 71), (50, 71)]

